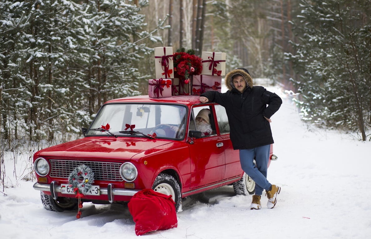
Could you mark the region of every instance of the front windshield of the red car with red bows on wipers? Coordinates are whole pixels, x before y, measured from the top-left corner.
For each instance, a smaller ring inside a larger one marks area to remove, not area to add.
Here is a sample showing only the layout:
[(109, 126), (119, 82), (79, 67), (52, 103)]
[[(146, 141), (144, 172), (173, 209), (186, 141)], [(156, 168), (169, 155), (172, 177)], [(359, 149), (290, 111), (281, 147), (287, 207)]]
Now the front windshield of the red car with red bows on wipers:
[(183, 139), (187, 108), (170, 104), (106, 104), (87, 136)]

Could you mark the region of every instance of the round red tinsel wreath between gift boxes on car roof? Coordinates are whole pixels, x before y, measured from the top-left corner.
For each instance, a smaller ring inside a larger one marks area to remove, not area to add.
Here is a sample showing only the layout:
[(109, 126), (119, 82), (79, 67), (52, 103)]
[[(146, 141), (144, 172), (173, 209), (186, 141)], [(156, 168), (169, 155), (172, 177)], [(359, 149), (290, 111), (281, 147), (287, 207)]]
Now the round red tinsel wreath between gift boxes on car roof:
[(188, 84), (191, 75), (200, 75), (202, 71), (202, 59), (194, 55), (194, 50), (185, 51), (178, 49), (173, 53), (174, 77)]

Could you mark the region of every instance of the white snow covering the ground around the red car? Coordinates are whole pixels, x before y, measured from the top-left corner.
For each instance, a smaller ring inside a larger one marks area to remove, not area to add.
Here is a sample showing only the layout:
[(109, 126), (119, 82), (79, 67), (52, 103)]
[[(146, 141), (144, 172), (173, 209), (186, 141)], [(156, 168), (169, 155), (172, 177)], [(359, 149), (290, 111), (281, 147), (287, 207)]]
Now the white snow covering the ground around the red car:
[[(142, 237), (370, 238), (371, 142), (305, 124), (289, 95), (278, 87), (266, 88), (283, 99), (271, 123), (278, 161), (270, 165), (268, 179), (282, 188), (275, 208), (267, 209), (262, 197), (262, 209), (250, 210), (252, 196), (236, 196), (225, 186), (183, 207), (177, 228)], [(6, 152), (7, 180), (14, 183), (11, 157)], [(5, 189), (6, 195), (0, 193), (1, 238), (137, 238), (127, 206), (84, 203), (82, 218), (76, 219), (75, 211), (46, 211), (34, 182), (17, 182)]]

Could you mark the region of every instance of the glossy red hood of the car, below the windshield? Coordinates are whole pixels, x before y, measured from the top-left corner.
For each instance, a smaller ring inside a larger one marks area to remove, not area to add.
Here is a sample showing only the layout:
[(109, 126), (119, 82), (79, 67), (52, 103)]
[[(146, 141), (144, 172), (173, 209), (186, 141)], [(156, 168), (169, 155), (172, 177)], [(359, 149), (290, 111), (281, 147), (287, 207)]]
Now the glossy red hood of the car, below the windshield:
[(36, 152), (36, 156), (52, 158), (96, 158), (129, 160), (134, 155), (144, 155), (166, 150), (173, 141), (129, 137), (85, 137)]

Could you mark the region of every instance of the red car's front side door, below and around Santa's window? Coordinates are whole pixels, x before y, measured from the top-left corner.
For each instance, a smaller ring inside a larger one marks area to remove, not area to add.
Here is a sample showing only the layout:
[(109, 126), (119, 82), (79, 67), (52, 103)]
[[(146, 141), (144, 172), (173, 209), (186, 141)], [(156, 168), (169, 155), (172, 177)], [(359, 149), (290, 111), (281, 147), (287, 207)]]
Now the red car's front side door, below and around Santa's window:
[[(216, 134), (214, 116), (211, 113), (213, 110), (209, 106), (193, 107), (191, 109), (190, 122), (188, 122), (188, 132), (192, 129), (195, 118), (201, 109), (207, 108), (210, 110), (210, 123), (213, 131), (209, 135), (202, 138), (193, 138), (193, 143), (189, 144), (190, 150), (190, 170), (191, 170), (191, 184), (190, 188), (200, 188), (205, 185), (211, 185), (224, 179), (225, 159), (224, 148), (220, 147), (222, 138)], [(193, 121), (193, 122), (192, 122)], [(194, 127), (194, 126), (193, 126)], [(214, 127), (214, 128), (213, 128)], [(188, 141), (190, 138), (188, 139)]]

